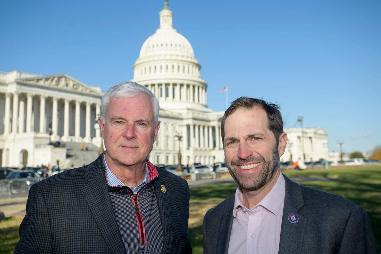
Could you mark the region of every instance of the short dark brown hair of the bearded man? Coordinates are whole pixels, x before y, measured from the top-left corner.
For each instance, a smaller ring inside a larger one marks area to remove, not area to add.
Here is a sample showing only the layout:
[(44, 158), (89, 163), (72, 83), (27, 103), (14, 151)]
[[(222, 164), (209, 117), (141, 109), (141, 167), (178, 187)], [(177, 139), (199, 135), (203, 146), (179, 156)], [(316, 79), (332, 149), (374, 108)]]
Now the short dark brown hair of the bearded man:
[(279, 111), (279, 105), (274, 103), (268, 103), (263, 99), (255, 99), (249, 97), (238, 97), (236, 98), (229, 108), (224, 113), (221, 121), (221, 138), (224, 144), (225, 137), (225, 121), (226, 118), (239, 109), (253, 109), (254, 107), (260, 107), (267, 114), (268, 128), (274, 133), (275, 140), (279, 141), (280, 135), (283, 133), (283, 120), (282, 113)]

